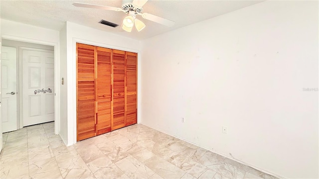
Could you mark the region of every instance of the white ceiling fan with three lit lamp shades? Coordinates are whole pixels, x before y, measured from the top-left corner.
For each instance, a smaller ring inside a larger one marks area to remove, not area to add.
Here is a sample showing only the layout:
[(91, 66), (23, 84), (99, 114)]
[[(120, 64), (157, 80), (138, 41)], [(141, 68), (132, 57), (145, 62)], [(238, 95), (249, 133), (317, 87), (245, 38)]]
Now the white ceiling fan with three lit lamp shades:
[(114, 10), (114, 11), (123, 11), (128, 14), (127, 17), (123, 19), (123, 24), (122, 28), (123, 30), (127, 32), (131, 32), (132, 28), (135, 24), (135, 27), (138, 31), (143, 30), (146, 25), (136, 18), (136, 15), (141, 15), (143, 18), (152, 20), (154, 22), (166, 25), (166, 26), (173, 26), (175, 22), (150, 14), (150, 13), (142, 13), (143, 11), (143, 5), (148, 1), (148, 0), (133, 0), (133, 2), (126, 2), (128, 0), (123, 0), (122, 7), (112, 7), (112, 6), (106, 6), (106, 5), (96, 5), (96, 4), (88, 4), (88, 3), (81, 3), (81, 2), (75, 2), (73, 3), (74, 6), (77, 7), (88, 7), (88, 8), (96, 8), (96, 9), (105, 9), (105, 10)]

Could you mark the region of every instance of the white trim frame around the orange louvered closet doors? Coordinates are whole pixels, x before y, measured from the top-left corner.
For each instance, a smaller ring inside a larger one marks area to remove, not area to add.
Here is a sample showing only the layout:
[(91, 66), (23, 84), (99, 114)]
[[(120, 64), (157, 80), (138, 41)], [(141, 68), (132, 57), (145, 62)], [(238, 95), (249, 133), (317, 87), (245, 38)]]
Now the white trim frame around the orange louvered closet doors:
[[(69, 78), (69, 82), (71, 80), (72, 82), (72, 88), (71, 89), (67, 89), (67, 93), (72, 94), (72, 120), (73, 120), (73, 144), (76, 144), (76, 134), (77, 134), (77, 126), (76, 126), (76, 122), (77, 122), (77, 115), (76, 115), (76, 104), (77, 104), (77, 97), (76, 97), (76, 43), (82, 43), (82, 44), (87, 44), (87, 45), (93, 45), (93, 46), (99, 46), (99, 47), (104, 47), (104, 48), (110, 48), (110, 49), (115, 49), (115, 50), (122, 50), (122, 51), (127, 51), (127, 52), (134, 52), (138, 54), (138, 59), (137, 59), (137, 124), (140, 123), (140, 118), (141, 118), (141, 52), (140, 50), (136, 50), (136, 49), (131, 49), (131, 48), (126, 48), (126, 47), (120, 47), (120, 46), (115, 46), (115, 45), (110, 45), (107, 43), (100, 43), (100, 42), (94, 42), (94, 41), (90, 41), (90, 40), (84, 40), (84, 39), (79, 39), (79, 38), (73, 38), (73, 42), (72, 42), (72, 79)], [(68, 118), (68, 120), (70, 120), (70, 118)]]

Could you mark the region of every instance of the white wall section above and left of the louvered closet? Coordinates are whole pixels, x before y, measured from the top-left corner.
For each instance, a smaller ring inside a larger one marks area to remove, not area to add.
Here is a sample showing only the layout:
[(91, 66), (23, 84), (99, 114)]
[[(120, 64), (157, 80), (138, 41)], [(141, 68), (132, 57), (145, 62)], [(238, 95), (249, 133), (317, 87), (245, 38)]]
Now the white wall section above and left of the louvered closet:
[(76, 143), (76, 42), (137, 53), (140, 51), (140, 42), (138, 40), (72, 22), (66, 23), (67, 125), (64, 128), (67, 128), (68, 133), (67, 145)]

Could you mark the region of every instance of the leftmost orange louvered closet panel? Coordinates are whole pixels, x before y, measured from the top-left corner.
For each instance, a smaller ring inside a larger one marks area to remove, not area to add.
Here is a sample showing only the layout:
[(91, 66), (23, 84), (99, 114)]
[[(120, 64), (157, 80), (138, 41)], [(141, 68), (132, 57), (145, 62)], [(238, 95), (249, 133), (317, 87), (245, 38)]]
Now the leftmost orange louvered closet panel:
[(77, 140), (95, 136), (95, 47), (77, 43)]

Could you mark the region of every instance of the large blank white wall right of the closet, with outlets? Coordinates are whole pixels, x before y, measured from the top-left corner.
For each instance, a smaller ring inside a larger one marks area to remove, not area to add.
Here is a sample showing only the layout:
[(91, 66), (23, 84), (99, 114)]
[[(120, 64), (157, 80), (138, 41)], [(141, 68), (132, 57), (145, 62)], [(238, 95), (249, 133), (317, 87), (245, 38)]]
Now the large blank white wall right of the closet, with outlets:
[(318, 1), (265, 1), (142, 41), (141, 123), (319, 178), (318, 23)]

